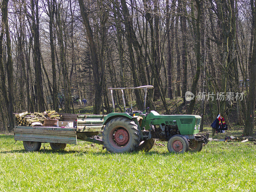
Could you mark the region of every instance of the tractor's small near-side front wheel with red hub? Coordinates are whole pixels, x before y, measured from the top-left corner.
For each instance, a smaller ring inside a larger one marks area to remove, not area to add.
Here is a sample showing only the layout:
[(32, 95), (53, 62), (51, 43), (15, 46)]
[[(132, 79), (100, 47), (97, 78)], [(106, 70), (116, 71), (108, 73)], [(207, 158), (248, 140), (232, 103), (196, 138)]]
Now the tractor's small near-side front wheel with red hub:
[(172, 136), (167, 143), (168, 151), (171, 153), (184, 153), (188, 151), (188, 140), (182, 135)]

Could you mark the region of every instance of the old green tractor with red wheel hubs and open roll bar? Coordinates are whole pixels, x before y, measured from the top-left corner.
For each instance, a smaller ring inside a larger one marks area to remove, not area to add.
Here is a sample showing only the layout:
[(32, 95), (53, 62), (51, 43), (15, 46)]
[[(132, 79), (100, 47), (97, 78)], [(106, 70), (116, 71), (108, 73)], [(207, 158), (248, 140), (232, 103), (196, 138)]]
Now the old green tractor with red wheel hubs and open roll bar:
[[(109, 88), (113, 104), (113, 113), (104, 117), (102, 141), (109, 152), (123, 153), (149, 151), (156, 139), (168, 141), (167, 148), (172, 153), (201, 151), (203, 143), (209, 142), (209, 133), (199, 133), (201, 116), (198, 115), (160, 115), (146, 108), (147, 90), (153, 86), (132, 88)], [(144, 109), (132, 110), (131, 92), (144, 91)], [(122, 92), (124, 113), (115, 113), (113, 90)], [(127, 91), (130, 108), (125, 108), (124, 90)]]

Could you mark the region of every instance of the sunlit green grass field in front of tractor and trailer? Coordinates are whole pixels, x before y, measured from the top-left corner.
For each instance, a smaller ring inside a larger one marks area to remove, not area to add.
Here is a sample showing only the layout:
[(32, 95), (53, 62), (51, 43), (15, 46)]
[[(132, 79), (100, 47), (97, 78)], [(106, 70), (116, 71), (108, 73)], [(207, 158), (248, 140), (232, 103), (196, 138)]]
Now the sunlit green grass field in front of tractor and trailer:
[(28, 153), (0, 135), (0, 191), (256, 191), (256, 145), (210, 142), (199, 153), (110, 154), (81, 142), (53, 152)]

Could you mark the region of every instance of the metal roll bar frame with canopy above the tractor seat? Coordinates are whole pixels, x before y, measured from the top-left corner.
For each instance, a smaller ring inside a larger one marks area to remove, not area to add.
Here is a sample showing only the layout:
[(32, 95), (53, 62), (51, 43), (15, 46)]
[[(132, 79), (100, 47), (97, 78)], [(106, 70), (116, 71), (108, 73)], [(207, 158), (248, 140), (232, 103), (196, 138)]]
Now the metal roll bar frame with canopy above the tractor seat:
[(125, 100), (124, 100), (124, 90), (128, 92), (130, 95), (130, 102), (131, 102), (131, 111), (132, 111), (132, 94), (131, 91), (135, 89), (143, 89), (144, 91), (144, 109), (146, 108), (146, 98), (147, 98), (147, 92), (148, 89), (153, 89), (154, 87), (152, 85), (145, 85), (145, 86), (140, 86), (140, 87), (124, 87), (124, 88), (108, 88), (110, 90), (111, 94), (111, 99), (112, 99), (112, 105), (113, 105), (113, 113), (115, 112), (115, 103), (114, 103), (114, 98), (113, 98), (113, 90), (121, 90), (122, 92), (122, 98), (124, 102), (124, 111), (125, 111)]

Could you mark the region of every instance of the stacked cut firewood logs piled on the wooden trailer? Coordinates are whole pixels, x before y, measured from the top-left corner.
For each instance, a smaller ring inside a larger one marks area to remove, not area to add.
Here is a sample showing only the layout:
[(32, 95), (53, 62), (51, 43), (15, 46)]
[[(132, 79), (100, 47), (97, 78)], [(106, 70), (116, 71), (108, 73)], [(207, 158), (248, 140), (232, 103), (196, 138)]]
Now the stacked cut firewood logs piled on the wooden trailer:
[(43, 126), (44, 120), (47, 119), (60, 119), (55, 111), (44, 111), (43, 113), (28, 113), (28, 111), (16, 114), (16, 121), (18, 126)]

